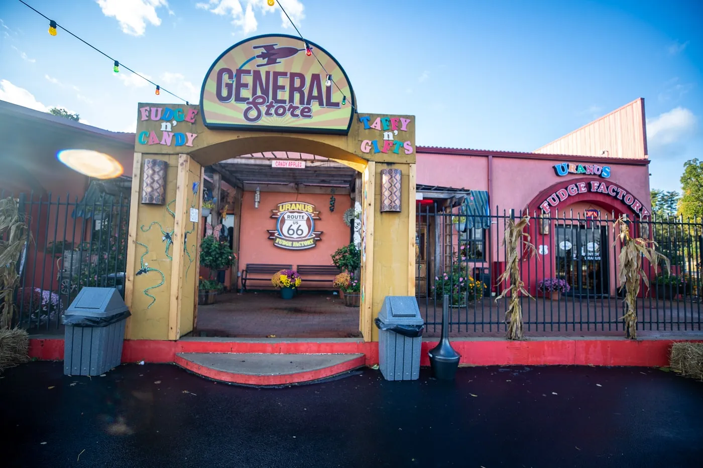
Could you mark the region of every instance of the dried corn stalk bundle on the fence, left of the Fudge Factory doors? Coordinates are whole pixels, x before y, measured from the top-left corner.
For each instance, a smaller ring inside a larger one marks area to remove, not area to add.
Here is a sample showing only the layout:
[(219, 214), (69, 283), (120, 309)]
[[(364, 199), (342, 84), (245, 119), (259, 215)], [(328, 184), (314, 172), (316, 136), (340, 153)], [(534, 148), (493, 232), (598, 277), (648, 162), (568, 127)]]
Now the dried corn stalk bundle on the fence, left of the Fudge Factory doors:
[(505, 323), (508, 323), (508, 333), (505, 335), (508, 339), (522, 339), (522, 305), (520, 304), (520, 294), (524, 294), (530, 299), (529, 292), (524, 289), (524, 282), (520, 279), (520, 252), (527, 249), (529, 256), (534, 256), (536, 249), (531, 244), (529, 234), (524, 231), (524, 228), (529, 226), (529, 216), (524, 216), (520, 221), (515, 223), (514, 219), (508, 220), (505, 225), (505, 238), (503, 245), (505, 246), (505, 271), (500, 278), (498, 284), (507, 281), (509, 286), (501, 295), (496, 297), (503, 299), (510, 293), (510, 301), (508, 301), (508, 310), (505, 311)]

